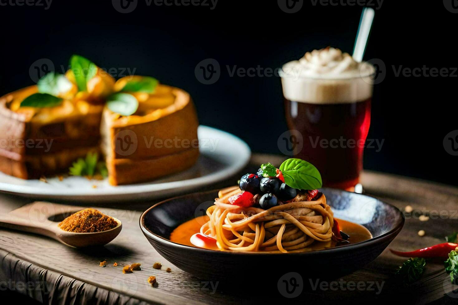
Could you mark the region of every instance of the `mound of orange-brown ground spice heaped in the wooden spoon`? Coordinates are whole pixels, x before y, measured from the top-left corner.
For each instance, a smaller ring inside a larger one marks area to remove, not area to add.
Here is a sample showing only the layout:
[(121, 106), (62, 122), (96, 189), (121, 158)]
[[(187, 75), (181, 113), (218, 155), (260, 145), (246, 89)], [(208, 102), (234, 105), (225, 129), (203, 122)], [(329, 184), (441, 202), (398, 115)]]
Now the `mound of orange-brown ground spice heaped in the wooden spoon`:
[(83, 209), (65, 218), (60, 229), (75, 233), (93, 233), (111, 230), (118, 225), (113, 217), (102, 214), (96, 209)]

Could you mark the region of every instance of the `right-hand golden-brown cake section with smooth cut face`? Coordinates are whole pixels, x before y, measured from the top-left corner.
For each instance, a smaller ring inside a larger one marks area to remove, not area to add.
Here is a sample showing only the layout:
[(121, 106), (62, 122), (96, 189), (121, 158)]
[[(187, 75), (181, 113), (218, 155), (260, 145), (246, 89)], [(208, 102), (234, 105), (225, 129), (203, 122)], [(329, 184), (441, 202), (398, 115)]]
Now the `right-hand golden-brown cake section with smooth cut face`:
[[(138, 80), (142, 76), (135, 76)], [(116, 82), (121, 91), (126, 78)], [(105, 107), (101, 134), (111, 185), (149, 181), (191, 167), (199, 155), (197, 115), (190, 95), (157, 85), (152, 93), (124, 91), (138, 101), (123, 116)]]

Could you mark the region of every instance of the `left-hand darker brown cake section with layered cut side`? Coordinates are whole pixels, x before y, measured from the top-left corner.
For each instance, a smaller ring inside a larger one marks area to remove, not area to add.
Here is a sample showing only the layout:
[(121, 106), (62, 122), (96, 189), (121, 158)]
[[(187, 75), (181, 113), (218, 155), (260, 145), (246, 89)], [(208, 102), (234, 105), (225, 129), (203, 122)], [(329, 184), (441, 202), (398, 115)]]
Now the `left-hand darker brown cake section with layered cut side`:
[(22, 179), (67, 172), (99, 150), (102, 105), (64, 99), (55, 107), (20, 107), (30, 86), (0, 97), (0, 171)]

